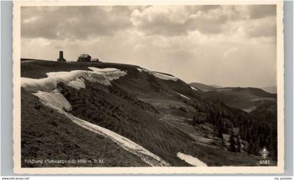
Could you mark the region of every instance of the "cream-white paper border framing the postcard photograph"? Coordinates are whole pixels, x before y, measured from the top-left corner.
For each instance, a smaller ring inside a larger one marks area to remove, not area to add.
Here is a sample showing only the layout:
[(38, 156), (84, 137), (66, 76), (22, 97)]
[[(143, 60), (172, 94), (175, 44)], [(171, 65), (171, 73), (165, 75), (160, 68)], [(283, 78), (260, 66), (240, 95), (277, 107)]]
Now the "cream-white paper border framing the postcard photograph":
[[(278, 164), (276, 167), (21, 167), (20, 7), (113, 5), (276, 4)], [(13, 2), (13, 160), (17, 174), (274, 174), (284, 172), (283, 1), (14, 1)]]

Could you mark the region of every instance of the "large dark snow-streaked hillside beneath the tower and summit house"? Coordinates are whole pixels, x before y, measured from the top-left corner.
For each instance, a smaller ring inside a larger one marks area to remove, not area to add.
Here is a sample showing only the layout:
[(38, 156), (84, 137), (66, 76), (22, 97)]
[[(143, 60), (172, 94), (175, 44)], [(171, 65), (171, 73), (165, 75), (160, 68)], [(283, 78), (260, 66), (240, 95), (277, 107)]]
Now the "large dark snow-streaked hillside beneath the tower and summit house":
[[(248, 136), (263, 125), (252, 114), (170, 74), (129, 64), (27, 60), (21, 76), (23, 159), (79, 155), (104, 158), (105, 166), (244, 166), (258, 165), (263, 146), (275, 148), (269, 141), (252, 144), (275, 138)], [(40, 132), (43, 127), (57, 132)], [(241, 139), (240, 152), (228, 151), (231, 130)], [(58, 146), (48, 150), (49, 144)]]

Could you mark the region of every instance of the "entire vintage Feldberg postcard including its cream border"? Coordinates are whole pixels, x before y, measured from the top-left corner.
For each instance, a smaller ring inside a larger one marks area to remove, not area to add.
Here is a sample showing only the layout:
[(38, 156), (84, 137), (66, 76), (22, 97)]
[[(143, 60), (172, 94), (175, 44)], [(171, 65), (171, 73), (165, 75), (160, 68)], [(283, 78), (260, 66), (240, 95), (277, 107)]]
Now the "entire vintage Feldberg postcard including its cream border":
[(18, 174), (281, 173), (283, 1), (15, 1)]

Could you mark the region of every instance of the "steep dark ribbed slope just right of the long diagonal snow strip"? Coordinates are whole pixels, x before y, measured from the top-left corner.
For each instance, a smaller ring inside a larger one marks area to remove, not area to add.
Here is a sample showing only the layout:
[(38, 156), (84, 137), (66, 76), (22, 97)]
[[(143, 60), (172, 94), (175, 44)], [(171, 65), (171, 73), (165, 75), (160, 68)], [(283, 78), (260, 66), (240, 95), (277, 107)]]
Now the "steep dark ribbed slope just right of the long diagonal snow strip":
[[(119, 88), (99, 83), (86, 83), (86, 87), (76, 90), (59, 85), (62, 94), (73, 106), (73, 115), (135, 141), (172, 165), (188, 165), (176, 158), (176, 153), (183, 151), (193, 140), (188, 134), (160, 122), (150, 109), (138, 106), (134, 103), (136, 99)], [(176, 144), (183, 145), (175, 147)]]

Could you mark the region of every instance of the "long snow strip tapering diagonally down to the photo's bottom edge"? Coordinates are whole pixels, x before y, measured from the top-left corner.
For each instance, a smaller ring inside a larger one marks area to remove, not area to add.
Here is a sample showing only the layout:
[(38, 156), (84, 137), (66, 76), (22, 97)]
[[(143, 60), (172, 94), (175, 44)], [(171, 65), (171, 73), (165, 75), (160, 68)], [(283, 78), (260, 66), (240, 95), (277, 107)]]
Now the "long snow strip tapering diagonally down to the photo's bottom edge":
[(118, 146), (124, 148), (126, 151), (129, 151), (130, 153), (139, 156), (139, 158), (141, 158), (141, 160), (146, 162), (148, 165), (170, 166), (168, 162), (162, 160), (158, 155), (151, 153), (146, 148), (140, 146), (139, 144), (136, 144), (134, 141), (131, 141), (130, 139), (127, 139), (126, 137), (123, 137), (116, 132), (108, 130), (104, 127), (100, 127), (99, 125), (94, 125), (85, 120), (77, 118), (76, 116), (73, 116), (71, 113), (66, 112), (71, 110), (71, 104), (60, 92), (58, 92), (58, 90), (53, 90), (52, 92), (38, 91), (33, 95), (36, 95), (39, 99), (41, 99), (41, 102), (45, 106), (48, 106), (51, 109), (55, 109), (58, 113), (64, 114), (66, 117), (70, 118), (73, 123), (76, 123), (80, 127), (83, 127), (87, 130), (111, 139), (116, 144), (118, 144)]

